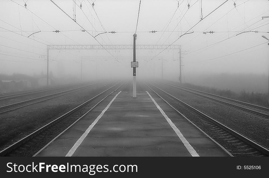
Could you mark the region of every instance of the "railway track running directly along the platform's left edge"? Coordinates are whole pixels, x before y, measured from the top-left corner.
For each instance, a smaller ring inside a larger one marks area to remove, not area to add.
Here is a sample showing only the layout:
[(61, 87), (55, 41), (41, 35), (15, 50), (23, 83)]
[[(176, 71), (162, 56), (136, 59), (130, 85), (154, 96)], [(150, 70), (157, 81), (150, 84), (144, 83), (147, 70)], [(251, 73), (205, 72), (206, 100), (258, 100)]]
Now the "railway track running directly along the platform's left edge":
[[(79, 121), (80, 118), (90, 112), (102, 100), (120, 88), (120, 83), (122, 83), (121, 85), (124, 84), (124, 82), (121, 81), (111, 86), (109, 89), (99, 93), (85, 103), (63, 114), (61, 117), (44, 125), (9, 147), (6, 147), (4, 150), (0, 151), (0, 156), (33, 156), (38, 154), (53, 142), (53, 140), (60, 136), (61, 133), (64, 133), (65, 130)], [(118, 85), (120, 86), (117, 87)]]

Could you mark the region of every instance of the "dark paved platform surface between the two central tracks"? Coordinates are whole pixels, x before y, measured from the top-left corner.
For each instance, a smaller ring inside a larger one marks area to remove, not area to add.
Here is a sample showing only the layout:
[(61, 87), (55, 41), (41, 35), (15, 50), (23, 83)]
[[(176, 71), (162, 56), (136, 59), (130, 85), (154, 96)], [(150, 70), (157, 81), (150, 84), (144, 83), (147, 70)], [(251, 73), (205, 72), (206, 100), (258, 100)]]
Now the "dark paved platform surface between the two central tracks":
[[(156, 94), (150, 93), (183, 137), (172, 129), (146, 91), (138, 92), (137, 98), (129, 91), (118, 93), (103, 100), (37, 156), (66, 156), (72, 147), (73, 153), (68, 156), (192, 156), (182, 138), (199, 156), (228, 156)], [(85, 138), (78, 144), (83, 133)]]

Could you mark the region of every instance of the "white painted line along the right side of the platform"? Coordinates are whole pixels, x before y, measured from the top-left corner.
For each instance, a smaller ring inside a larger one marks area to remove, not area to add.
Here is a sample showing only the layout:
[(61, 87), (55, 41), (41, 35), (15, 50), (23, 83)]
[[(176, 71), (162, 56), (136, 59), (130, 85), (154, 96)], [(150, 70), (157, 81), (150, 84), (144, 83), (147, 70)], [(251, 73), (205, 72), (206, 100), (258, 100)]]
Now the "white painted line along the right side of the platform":
[[(146, 91), (147, 92), (147, 91)], [(178, 135), (179, 139), (182, 141), (184, 146), (187, 148), (189, 153), (192, 156), (199, 156), (199, 154), (194, 150), (194, 148), (190, 145), (190, 143), (186, 140), (186, 138), (182, 135), (182, 133), (179, 131), (179, 129), (175, 126), (175, 124), (171, 121), (170, 118), (164, 113), (162, 108), (156, 103), (156, 101), (153, 99), (153, 97), (147, 92), (153, 103), (156, 105), (156, 107), (159, 109), (159, 111), (163, 114), (164, 118), (167, 120), (169, 125), (172, 127), (172, 129), (175, 131), (175, 133)]]

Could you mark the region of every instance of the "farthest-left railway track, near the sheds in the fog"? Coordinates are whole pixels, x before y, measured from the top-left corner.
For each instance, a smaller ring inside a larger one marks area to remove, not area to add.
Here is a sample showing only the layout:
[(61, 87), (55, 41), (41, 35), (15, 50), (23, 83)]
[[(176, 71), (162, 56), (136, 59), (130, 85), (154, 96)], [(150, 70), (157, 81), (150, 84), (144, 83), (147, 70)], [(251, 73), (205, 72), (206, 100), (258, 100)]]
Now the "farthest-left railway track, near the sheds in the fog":
[(21, 92), (15, 92), (15, 93), (3, 93), (0, 94), (0, 102), (3, 100), (10, 100), (10, 99), (14, 99), (20, 96), (27, 96), (27, 95), (31, 95), (31, 94), (36, 94), (36, 93), (42, 93), (42, 92), (47, 92), (47, 91), (51, 91), (51, 90), (56, 90), (56, 89), (62, 89), (62, 88), (67, 88), (67, 87), (72, 87), (72, 86), (77, 86), (77, 85), (83, 85), (86, 83), (77, 83), (77, 84), (72, 84), (72, 85), (61, 85), (61, 86), (57, 86), (57, 87), (51, 87), (51, 88), (43, 88), (43, 89), (35, 89), (35, 90), (25, 90), (25, 91), (21, 91)]

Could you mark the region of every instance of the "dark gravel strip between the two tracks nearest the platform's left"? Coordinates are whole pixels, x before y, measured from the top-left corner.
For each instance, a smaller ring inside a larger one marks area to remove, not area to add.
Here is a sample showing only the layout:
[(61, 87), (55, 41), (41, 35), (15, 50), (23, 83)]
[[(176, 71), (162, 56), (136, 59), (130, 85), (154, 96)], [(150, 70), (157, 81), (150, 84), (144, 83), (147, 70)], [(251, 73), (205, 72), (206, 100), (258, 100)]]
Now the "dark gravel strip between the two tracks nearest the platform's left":
[(0, 114), (0, 150), (83, 104), (115, 83), (101, 82), (94, 87)]

